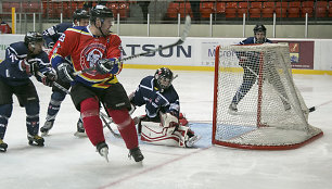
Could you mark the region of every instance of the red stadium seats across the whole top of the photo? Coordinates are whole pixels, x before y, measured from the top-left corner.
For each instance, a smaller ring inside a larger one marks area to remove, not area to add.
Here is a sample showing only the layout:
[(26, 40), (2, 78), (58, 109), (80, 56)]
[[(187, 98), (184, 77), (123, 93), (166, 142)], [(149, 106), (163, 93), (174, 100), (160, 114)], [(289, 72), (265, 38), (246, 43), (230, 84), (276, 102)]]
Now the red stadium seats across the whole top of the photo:
[[(112, 9), (115, 17), (125, 18), (130, 16), (130, 3), (135, 1), (105, 1), (106, 7)], [(95, 1), (93, 3), (95, 5)], [(21, 13), (42, 13), (43, 17), (59, 18), (63, 13), (64, 18), (72, 18), (76, 9), (81, 9), (84, 1), (51, 1), (42, 2), (2, 2), (2, 11), (11, 12), (15, 8)], [(193, 16), (191, 4), (188, 0), (177, 0), (168, 4), (167, 16), (176, 18), (178, 14), (184, 17), (187, 14)], [(264, 0), (201, 0), (200, 14), (202, 18), (208, 18), (210, 14), (225, 15), (226, 17), (242, 17), (243, 13), (250, 17), (332, 17), (332, 1), (264, 1)]]

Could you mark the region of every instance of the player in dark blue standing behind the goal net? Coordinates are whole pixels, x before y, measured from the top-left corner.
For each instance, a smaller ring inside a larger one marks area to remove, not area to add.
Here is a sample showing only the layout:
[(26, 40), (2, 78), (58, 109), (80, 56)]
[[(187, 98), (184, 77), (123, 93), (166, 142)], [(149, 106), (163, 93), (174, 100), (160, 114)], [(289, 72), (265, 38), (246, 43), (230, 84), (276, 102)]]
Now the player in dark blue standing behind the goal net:
[[(266, 38), (266, 27), (264, 25), (256, 25), (254, 27), (254, 37), (248, 37), (244, 40), (242, 40), (239, 45), (261, 45), (261, 43), (272, 43), (271, 40)], [(257, 76), (259, 74), (259, 53), (254, 51), (248, 52), (237, 52), (237, 56), (239, 59), (239, 65), (243, 67), (244, 74), (243, 74), (243, 80), (240, 86), (240, 88), (237, 90), (231, 104), (229, 105), (229, 113), (234, 114), (238, 112), (238, 104), (239, 102), (244, 98), (244, 96), (251, 90), (253, 85), (255, 84)], [(268, 64), (268, 63), (265, 63)], [(267, 66), (273, 66), (273, 65), (267, 65)], [(281, 93), (284, 99), (288, 99), (284, 88), (282, 84), (278, 80), (280, 80), (279, 75), (276, 73), (276, 68), (269, 67), (267, 70), (267, 77), (273, 79), (269, 79), (270, 83), (273, 83), (274, 86), (280, 86), (280, 88), (277, 88), (279, 90), (279, 93)], [(279, 84), (277, 84), (279, 83)], [(290, 104), (282, 100), (284, 104), (284, 109), (289, 110), (291, 109)]]

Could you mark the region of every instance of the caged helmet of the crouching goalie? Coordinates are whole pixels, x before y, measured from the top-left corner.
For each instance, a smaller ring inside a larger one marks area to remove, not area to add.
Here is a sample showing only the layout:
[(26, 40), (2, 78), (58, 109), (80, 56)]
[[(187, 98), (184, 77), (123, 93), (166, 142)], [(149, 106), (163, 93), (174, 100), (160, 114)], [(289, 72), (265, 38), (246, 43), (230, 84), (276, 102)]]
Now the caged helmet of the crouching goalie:
[(154, 79), (156, 80), (156, 87), (159, 90), (165, 90), (171, 85), (173, 72), (167, 67), (158, 68), (154, 74)]

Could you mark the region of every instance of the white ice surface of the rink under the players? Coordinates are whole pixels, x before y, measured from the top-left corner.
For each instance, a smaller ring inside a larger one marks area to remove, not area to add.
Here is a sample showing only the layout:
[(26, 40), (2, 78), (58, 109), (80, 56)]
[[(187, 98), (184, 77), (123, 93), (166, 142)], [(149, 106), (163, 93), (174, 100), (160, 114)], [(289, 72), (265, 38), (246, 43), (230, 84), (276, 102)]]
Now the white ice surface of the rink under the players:
[[(155, 70), (124, 68), (118, 76), (128, 93), (140, 79)], [(215, 147), (210, 143), (213, 72), (174, 71), (181, 112), (203, 138), (195, 148), (152, 146), (140, 142), (142, 165), (128, 159), (122, 139), (104, 128), (110, 147), (107, 163), (88, 138), (77, 138), (79, 112), (71, 98), (62, 103), (43, 148), (27, 142), (25, 109), (15, 99), (0, 153), (1, 189), (331, 189), (332, 188), (332, 102), (309, 114), (309, 123), (323, 137), (307, 146), (285, 151), (255, 151)], [(294, 75), (307, 106), (332, 100), (332, 76)], [(34, 79), (40, 98), (43, 125), (51, 88)], [(135, 113), (141, 115), (143, 108)]]

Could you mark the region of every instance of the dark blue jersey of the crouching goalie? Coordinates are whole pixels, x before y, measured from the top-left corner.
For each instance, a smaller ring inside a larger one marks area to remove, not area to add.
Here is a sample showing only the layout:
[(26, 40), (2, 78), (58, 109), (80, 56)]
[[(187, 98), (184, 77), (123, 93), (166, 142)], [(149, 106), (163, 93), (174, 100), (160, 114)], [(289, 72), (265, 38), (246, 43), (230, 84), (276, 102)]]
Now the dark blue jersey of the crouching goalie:
[(148, 117), (155, 122), (159, 119), (159, 111), (163, 113), (171, 113), (177, 117), (180, 112), (179, 96), (173, 85), (161, 92), (155, 87), (153, 76), (148, 76), (141, 80), (138, 89), (135, 91), (131, 103), (138, 106), (145, 104)]

